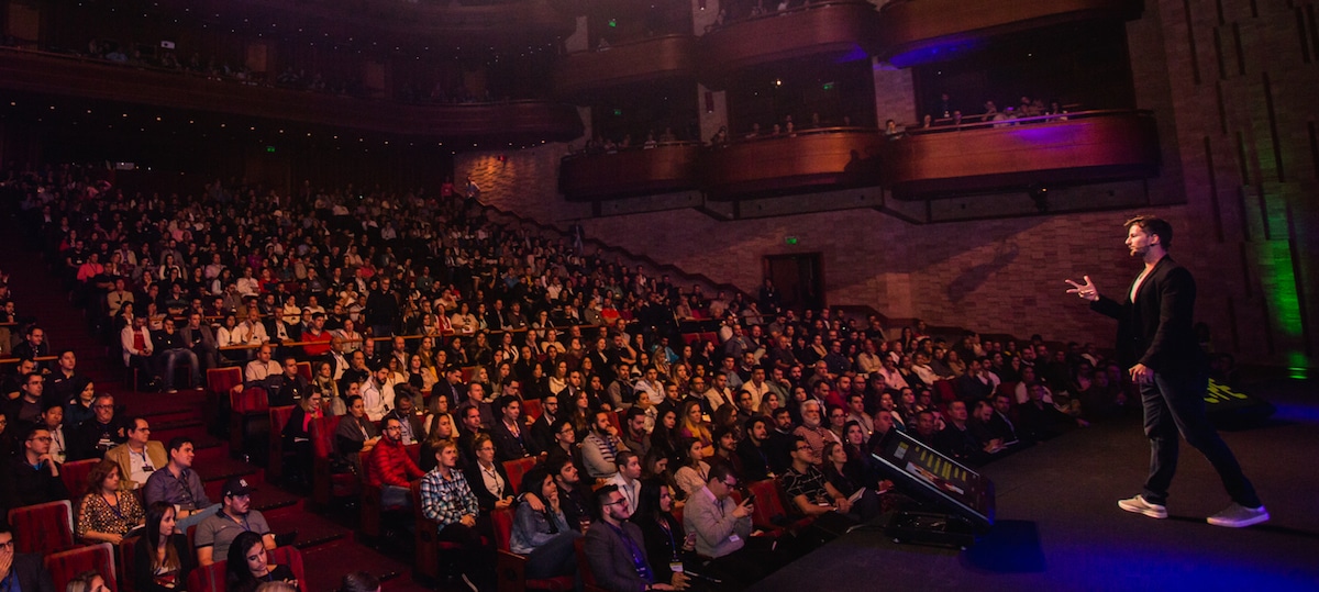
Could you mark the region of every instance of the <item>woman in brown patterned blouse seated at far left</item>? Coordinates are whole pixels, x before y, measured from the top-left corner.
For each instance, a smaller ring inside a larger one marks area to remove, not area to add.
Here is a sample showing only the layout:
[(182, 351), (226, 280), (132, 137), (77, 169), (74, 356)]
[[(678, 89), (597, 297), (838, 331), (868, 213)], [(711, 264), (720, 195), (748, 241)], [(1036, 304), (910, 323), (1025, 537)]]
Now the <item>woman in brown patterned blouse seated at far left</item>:
[(87, 492), (78, 504), (79, 539), (96, 543), (119, 545), (128, 533), (145, 523), (137, 496), (121, 488), (119, 465), (112, 460), (102, 460), (87, 473)]

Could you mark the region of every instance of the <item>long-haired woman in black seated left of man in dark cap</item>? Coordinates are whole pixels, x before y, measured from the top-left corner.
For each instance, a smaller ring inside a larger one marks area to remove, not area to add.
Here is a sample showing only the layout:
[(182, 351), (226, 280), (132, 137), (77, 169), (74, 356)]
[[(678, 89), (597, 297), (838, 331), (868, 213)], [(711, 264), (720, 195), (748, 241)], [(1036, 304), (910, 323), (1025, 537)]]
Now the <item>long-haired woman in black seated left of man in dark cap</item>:
[(186, 585), (189, 572), (197, 568), (174, 516), (174, 506), (164, 501), (146, 506), (146, 531), (133, 554), (133, 589), (171, 592)]

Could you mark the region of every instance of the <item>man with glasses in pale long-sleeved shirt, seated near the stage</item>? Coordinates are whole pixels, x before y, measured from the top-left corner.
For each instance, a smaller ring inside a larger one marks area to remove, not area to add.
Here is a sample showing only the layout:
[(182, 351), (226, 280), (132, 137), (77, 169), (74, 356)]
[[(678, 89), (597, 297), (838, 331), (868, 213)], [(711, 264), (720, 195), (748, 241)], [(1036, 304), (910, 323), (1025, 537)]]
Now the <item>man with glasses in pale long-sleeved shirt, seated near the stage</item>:
[(728, 465), (710, 467), (706, 487), (687, 500), (682, 521), (689, 533), (696, 534), (696, 555), (711, 558), (707, 566), (714, 572), (751, 584), (772, 563), (773, 543), (764, 537), (751, 538), (754, 500), (748, 496), (741, 504), (733, 501), (736, 489), (737, 477)]

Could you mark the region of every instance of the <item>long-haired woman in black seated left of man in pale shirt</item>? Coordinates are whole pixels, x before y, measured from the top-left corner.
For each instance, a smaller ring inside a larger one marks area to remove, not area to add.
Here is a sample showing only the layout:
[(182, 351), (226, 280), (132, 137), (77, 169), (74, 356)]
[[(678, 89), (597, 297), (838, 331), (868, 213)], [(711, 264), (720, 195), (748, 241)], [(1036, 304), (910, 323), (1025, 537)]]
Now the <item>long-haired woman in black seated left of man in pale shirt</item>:
[(689, 580), (685, 566), (695, 564), (698, 559), (694, 555), (696, 533), (685, 531), (673, 509), (673, 489), (662, 479), (649, 477), (641, 481), (640, 500), (630, 521), (641, 527), (656, 583), (682, 589)]

